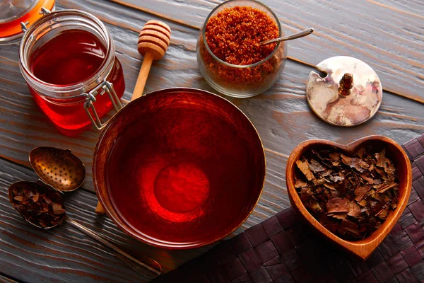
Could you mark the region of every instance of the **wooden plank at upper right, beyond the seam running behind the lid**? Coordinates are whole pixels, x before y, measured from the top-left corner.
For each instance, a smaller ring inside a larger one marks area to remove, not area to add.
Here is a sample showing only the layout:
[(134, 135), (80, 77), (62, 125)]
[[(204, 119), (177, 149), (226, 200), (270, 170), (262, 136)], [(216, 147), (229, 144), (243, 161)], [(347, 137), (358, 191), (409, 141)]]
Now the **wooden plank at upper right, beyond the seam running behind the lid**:
[[(196, 28), (203, 25), (208, 13), (221, 2), (113, 1)], [(336, 55), (357, 57), (375, 69), (385, 90), (424, 103), (424, 93), (420, 91), (424, 86), (420, 10), (401, 13), (399, 9), (367, 0), (263, 2), (277, 14), (285, 33), (315, 28), (312, 35), (289, 43), (291, 59), (315, 66)]]

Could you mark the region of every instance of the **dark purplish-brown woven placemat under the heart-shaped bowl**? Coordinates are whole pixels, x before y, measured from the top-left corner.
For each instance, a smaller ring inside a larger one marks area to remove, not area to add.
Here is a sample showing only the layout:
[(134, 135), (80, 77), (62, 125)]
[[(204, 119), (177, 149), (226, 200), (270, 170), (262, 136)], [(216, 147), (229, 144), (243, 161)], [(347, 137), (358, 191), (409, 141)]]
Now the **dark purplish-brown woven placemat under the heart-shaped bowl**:
[(365, 262), (315, 235), (290, 207), (155, 282), (424, 282), (424, 134), (404, 149), (413, 171), (408, 206)]

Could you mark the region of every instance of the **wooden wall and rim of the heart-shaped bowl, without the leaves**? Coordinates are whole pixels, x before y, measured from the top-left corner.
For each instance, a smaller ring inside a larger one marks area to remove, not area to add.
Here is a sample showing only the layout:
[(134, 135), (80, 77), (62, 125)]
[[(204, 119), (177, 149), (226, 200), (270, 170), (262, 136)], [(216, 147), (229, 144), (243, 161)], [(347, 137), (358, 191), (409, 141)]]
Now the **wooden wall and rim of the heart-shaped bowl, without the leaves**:
[[(376, 231), (374, 231), (370, 236), (367, 236), (359, 241), (348, 241), (336, 236), (336, 234), (331, 233), (331, 231), (322, 226), (322, 224), (320, 224), (319, 221), (317, 221), (317, 219), (315, 219), (315, 217), (310, 214), (310, 212), (306, 209), (305, 205), (302, 203), (302, 200), (300, 200), (298, 192), (294, 187), (293, 181), (295, 161), (297, 161), (298, 158), (305, 152), (304, 149), (307, 146), (311, 146), (314, 144), (335, 146), (336, 148), (341, 149), (342, 151), (349, 152), (353, 151), (353, 149), (358, 148), (358, 146), (363, 144), (365, 141), (382, 141), (383, 143), (394, 146), (394, 148), (399, 151), (403, 158), (401, 161), (396, 160), (396, 163), (404, 162), (406, 164), (407, 174), (406, 176), (404, 176), (405, 190), (404, 194), (399, 196), (398, 204), (400, 205), (396, 207), (397, 211), (394, 212), (395, 214), (393, 218), (391, 218), (389, 221), (384, 221), (382, 226)], [(406, 205), (408, 204), (408, 199), (411, 195), (412, 186), (411, 161), (409, 160), (404, 149), (402, 149), (402, 147), (396, 141), (381, 135), (370, 135), (367, 137), (356, 139), (355, 141), (352, 141), (348, 144), (339, 144), (337, 142), (329, 141), (326, 139), (309, 139), (307, 141), (302, 141), (300, 144), (298, 144), (298, 146), (296, 146), (290, 154), (287, 161), (287, 166), (285, 168), (285, 183), (287, 186), (288, 195), (290, 197), (290, 202), (292, 202), (292, 206), (295, 207), (295, 210), (297, 210), (301, 214), (302, 218), (305, 219), (308, 224), (310, 224), (316, 231), (318, 231), (320, 235), (324, 236), (324, 238), (336, 242), (342, 248), (345, 248), (346, 250), (350, 251), (351, 253), (354, 253), (358, 257), (363, 258), (365, 260), (371, 255), (371, 253), (377, 248), (377, 246), (379, 246), (379, 243), (381, 243), (384, 238), (386, 238), (391, 229), (394, 228), (396, 223), (399, 221), (401, 214), (404, 212)], [(377, 233), (377, 231), (379, 232)]]

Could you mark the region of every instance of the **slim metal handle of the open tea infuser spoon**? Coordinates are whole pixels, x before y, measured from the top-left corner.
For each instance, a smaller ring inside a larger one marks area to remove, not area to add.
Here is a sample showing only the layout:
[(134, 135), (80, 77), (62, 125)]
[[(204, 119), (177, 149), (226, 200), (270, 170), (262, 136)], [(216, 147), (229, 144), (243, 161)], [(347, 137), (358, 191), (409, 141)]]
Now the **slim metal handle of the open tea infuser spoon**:
[(143, 275), (147, 278), (155, 278), (158, 277), (162, 272), (162, 267), (160, 267), (159, 263), (155, 260), (152, 260), (151, 258), (148, 258), (146, 255), (141, 255), (140, 257), (143, 258), (146, 262), (149, 262), (151, 265), (154, 265), (155, 267), (151, 267), (149, 265), (146, 265), (146, 263), (141, 262), (140, 260), (134, 258), (132, 255), (129, 255), (128, 253), (124, 252), (121, 248), (118, 248), (113, 243), (110, 243), (106, 238), (103, 238), (102, 236), (98, 235), (98, 233), (95, 233), (94, 231), (91, 231), (90, 229), (86, 228), (85, 226), (79, 224), (76, 221), (73, 221), (72, 219), (69, 219), (69, 217), (66, 217), (66, 222), (73, 226), (74, 228), (78, 229), (79, 231), (85, 233), (86, 235), (90, 236), (91, 238), (99, 241), (103, 245), (107, 246), (108, 248), (111, 248), (114, 250), (114, 255), (117, 256), (120, 260), (126, 263), (126, 265), (129, 265), (132, 269), (136, 270), (136, 272), (139, 272), (139, 274)]

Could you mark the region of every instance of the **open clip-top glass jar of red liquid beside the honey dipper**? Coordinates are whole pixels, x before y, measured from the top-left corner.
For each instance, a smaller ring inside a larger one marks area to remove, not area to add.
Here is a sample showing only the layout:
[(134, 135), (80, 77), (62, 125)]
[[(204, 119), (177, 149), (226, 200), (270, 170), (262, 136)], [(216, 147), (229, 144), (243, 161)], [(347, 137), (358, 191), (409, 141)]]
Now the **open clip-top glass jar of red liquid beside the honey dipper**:
[(105, 25), (90, 13), (49, 13), (30, 27), (19, 47), (19, 67), (30, 93), (64, 134), (78, 134), (122, 108), (122, 66)]

